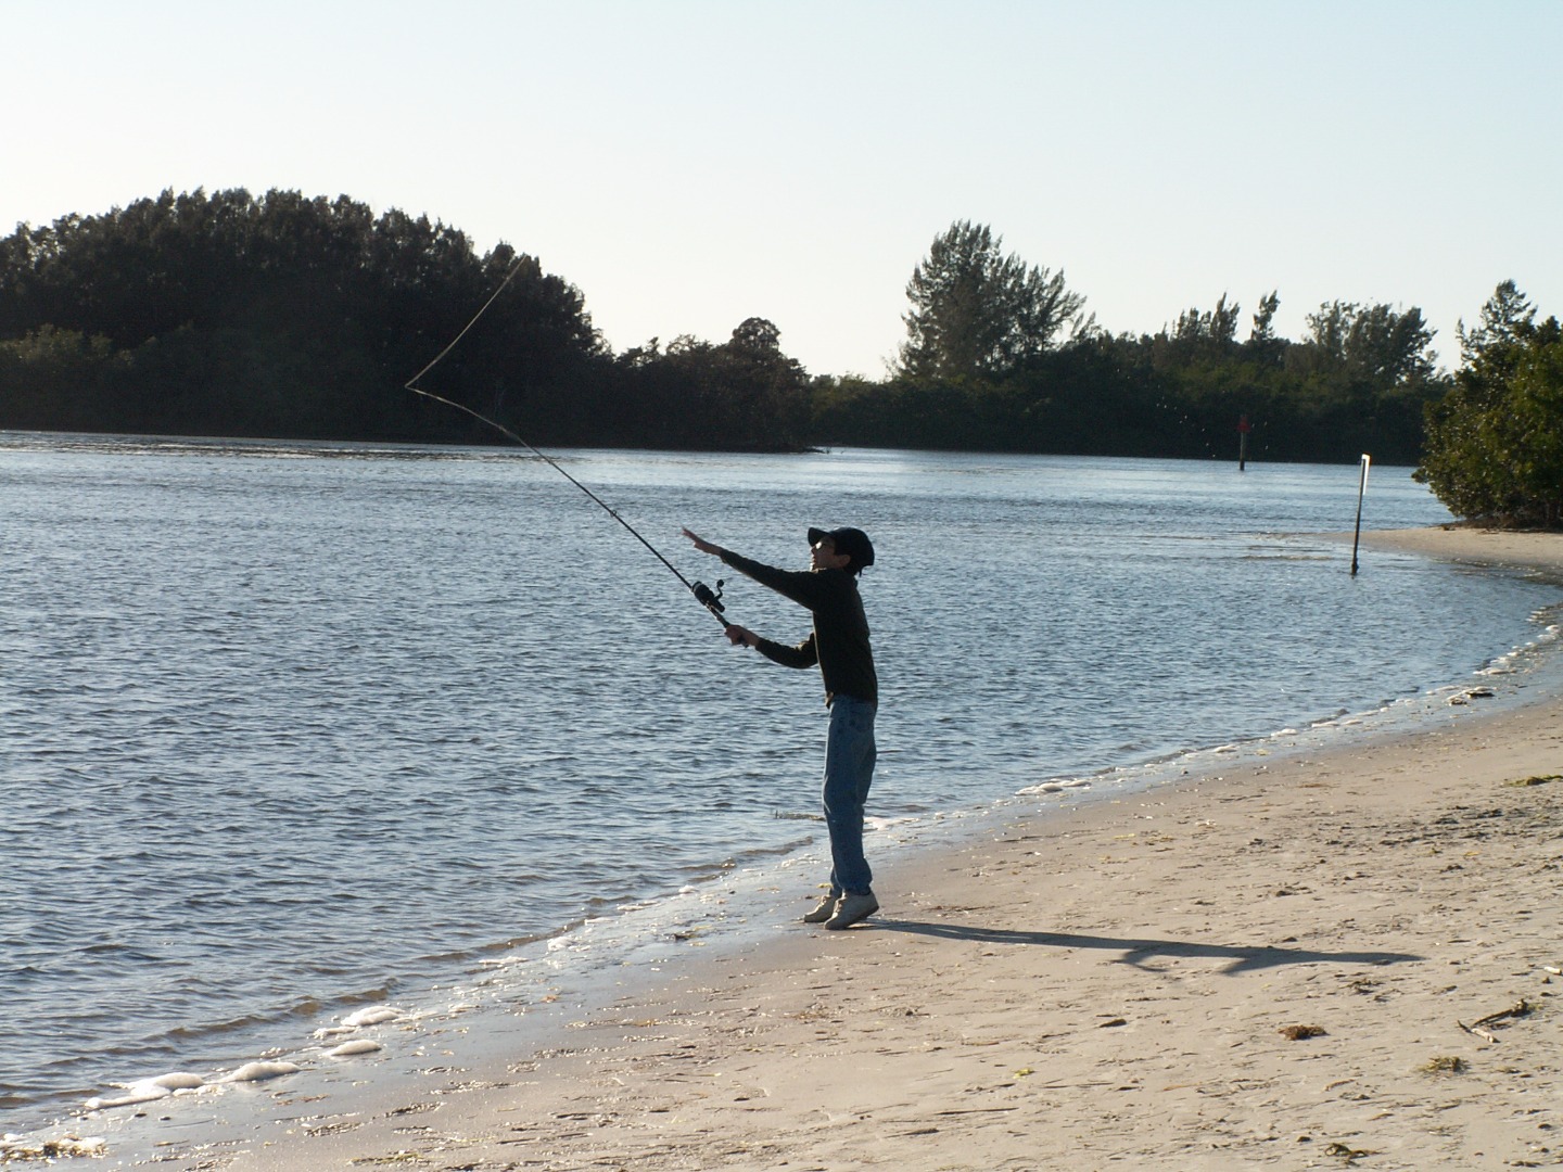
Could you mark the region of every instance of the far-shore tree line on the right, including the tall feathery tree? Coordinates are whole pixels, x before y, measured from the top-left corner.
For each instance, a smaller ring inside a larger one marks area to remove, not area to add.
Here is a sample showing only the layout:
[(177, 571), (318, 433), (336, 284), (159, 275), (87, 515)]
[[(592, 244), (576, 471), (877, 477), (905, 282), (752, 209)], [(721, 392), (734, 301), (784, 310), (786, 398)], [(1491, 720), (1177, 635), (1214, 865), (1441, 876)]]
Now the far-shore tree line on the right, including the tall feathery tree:
[(1221, 295), (1155, 334), (1111, 334), (1061, 272), (969, 222), (933, 242), (907, 297), (889, 378), (816, 384), (827, 442), (1235, 458), (1247, 420), (1257, 458), (1415, 463), (1422, 408), (1446, 389), (1421, 309), (1330, 302), (1289, 341), (1277, 292), (1246, 336)]

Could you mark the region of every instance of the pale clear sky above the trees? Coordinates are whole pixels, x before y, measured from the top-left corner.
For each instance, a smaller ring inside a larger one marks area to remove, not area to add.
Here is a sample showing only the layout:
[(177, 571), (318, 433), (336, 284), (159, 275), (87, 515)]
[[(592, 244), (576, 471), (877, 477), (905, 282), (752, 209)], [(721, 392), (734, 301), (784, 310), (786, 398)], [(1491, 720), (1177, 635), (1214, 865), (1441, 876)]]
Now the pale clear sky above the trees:
[(1277, 289), (1563, 316), (1563, 3), (0, 0), (0, 231), (347, 194), (536, 255), (616, 350), (883, 373), (952, 220), (1113, 333)]

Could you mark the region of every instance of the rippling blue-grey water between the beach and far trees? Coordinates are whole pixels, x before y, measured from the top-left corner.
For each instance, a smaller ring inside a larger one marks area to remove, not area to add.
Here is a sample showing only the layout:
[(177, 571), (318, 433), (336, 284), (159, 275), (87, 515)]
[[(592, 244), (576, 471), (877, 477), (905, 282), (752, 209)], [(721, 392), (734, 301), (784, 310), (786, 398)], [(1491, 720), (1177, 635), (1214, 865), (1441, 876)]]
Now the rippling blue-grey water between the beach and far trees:
[[(878, 817), (1468, 683), (1560, 597), (1352, 578), (1355, 467), (555, 455), (783, 641), (680, 525), (872, 534)], [(0, 1130), (817, 841), (817, 674), (514, 450), (9, 433), (0, 500)], [(1368, 527), (1447, 519), (1374, 469)]]

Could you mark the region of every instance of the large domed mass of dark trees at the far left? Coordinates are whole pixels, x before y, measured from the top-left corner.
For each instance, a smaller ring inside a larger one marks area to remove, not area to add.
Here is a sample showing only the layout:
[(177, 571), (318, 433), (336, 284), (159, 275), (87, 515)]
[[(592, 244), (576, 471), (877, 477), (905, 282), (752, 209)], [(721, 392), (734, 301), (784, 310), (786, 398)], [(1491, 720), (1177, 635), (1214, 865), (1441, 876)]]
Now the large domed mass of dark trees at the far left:
[[(0, 383), (8, 425), (361, 439), (466, 439), (399, 388), (516, 263), (456, 230), (361, 203), (272, 191), (138, 200), (20, 225), (0, 242)], [(495, 328), (452, 369), (467, 394), (560, 388), (600, 359), (580, 292), (531, 258)], [(41, 394), (39, 339), (113, 355), (97, 378)], [(19, 373), (20, 369), (20, 373)], [(28, 409), (17, 417), (19, 398)], [(447, 409), (449, 411), (449, 409)], [(456, 413), (450, 413), (456, 416)]]

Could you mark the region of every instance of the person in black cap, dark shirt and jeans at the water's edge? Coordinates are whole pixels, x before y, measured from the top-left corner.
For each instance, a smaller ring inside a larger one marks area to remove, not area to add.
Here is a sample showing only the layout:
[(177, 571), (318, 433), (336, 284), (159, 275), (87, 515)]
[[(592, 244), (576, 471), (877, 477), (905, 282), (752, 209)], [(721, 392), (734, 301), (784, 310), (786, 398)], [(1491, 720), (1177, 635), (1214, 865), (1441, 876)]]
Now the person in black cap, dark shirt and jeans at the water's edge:
[(763, 639), (747, 627), (731, 624), (727, 638), (753, 647), (785, 667), (813, 667), (825, 683), (830, 731), (825, 738), (825, 825), (830, 828), (830, 892), (803, 916), (805, 924), (847, 928), (878, 911), (867, 859), (863, 856), (863, 803), (874, 780), (874, 714), (878, 709), (878, 678), (869, 624), (858, 595), (858, 573), (874, 564), (874, 545), (863, 530), (808, 531), (808, 572), (778, 570), (721, 545), (683, 534), (702, 553), (714, 553), (727, 566), (761, 586), (807, 606), (814, 616), (810, 636), (788, 647)]

